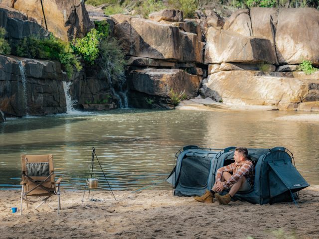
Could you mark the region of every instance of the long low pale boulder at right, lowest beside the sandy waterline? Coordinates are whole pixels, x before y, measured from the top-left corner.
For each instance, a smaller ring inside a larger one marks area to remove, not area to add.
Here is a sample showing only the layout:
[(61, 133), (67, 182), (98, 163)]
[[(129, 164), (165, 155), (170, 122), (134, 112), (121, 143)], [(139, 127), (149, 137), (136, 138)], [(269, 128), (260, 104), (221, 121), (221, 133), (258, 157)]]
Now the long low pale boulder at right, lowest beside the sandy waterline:
[(269, 105), (296, 110), (300, 103), (319, 101), (319, 80), (259, 76), (256, 71), (211, 74), (206, 87), (210, 97), (226, 104)]

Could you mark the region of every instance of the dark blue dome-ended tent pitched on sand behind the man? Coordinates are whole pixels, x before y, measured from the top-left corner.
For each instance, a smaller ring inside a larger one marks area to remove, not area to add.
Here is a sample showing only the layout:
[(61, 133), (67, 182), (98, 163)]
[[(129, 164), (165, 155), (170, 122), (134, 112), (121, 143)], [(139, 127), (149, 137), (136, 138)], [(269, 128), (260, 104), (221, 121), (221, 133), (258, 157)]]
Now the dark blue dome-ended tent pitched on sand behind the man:
[[(217, 170), (234, 162), (235, 148), (211, 149), (189, 145), (179, 150), (176, 166), (167, 178), (173, 185), (174, 195), (200, 196), (206, 189), (211, 189)], [(234, 200), (260, 205), (291, 201), (298, 198), (296, 192), (309, 186), (295, 168), (293, 154), (288, 149), (248, 148), (248, 153), (255, 165), (254, 188), (236, 193)]]

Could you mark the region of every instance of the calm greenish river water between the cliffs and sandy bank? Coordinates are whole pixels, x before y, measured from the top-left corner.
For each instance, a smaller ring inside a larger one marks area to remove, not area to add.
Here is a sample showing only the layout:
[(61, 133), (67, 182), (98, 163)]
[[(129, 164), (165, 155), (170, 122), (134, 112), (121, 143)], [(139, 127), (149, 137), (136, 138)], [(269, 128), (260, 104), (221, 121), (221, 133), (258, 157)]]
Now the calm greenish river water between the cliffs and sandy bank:
[[(304, 114), (126, 109), (8, 119), (0, 124), (0, 189), (20, 188), (20, 154), (52, 153), (63, 188), (82, 190), (92, 147), (112, 189), (168, 189), (171, 185), (165, 179), (174, 155), (189, 144), (212, 148), (284, 146), (293, 152), (296, 167), (308, 183), (319, 184), (319, 122), (276, 120)], [(99, 189), (108, 190), (98, 161), (95, 158), (94, 175), (99, 178)]]

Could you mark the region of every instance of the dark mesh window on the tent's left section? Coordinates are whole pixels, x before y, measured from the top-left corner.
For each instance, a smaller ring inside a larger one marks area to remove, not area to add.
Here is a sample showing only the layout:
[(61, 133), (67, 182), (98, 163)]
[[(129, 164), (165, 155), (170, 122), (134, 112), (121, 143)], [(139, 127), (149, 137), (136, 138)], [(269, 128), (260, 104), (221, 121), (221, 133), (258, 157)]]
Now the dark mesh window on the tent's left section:
[(185, 187), (206, 187), (211, 161), (208, 158), (183, 159), (179, 184)]

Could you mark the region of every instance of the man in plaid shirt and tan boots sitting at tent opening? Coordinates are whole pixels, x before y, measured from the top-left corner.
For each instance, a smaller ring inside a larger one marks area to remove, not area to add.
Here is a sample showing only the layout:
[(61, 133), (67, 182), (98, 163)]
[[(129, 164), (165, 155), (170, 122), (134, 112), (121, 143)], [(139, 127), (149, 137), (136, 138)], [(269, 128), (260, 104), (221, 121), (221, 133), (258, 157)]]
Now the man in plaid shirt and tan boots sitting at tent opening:
[[(200, 197), (194, 199), (198, 202), (213, 203), (216, 197), (219, 204), (228, 204), (237, 191), (248, 191), (253, 188), (255, 167), (252, 161), (247, 159), (247, 148), (238, 147), (234, 152), (235, 162), (217, 170), (216, 182), (213, 188)], [(218, 193), (224, 189), (230, 189), (229, 193), (221, 196)], [(216, 193), (218, 192), (218, 193)]]

